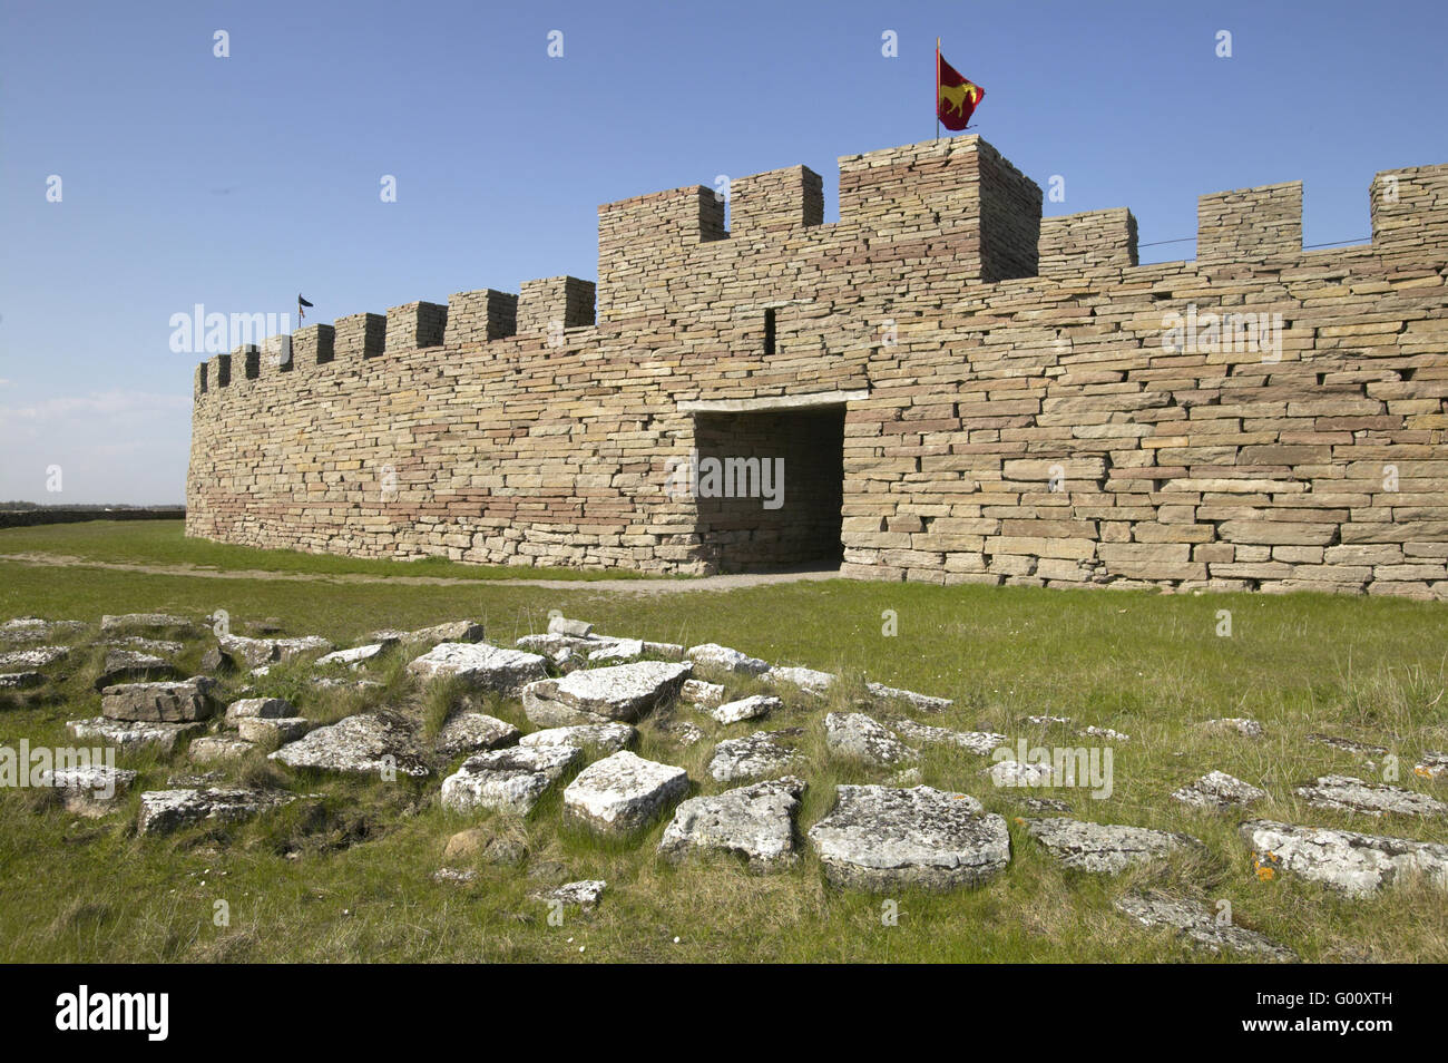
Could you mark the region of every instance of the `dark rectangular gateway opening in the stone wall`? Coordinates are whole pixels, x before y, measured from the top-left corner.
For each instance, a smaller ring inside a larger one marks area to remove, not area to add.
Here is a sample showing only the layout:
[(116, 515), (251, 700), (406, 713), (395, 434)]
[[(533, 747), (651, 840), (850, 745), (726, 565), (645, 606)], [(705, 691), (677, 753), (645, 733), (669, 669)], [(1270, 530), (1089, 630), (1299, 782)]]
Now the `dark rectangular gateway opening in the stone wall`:
[(720, 572), (838, 566), (844, 406), (696, 413), (699, 536)]

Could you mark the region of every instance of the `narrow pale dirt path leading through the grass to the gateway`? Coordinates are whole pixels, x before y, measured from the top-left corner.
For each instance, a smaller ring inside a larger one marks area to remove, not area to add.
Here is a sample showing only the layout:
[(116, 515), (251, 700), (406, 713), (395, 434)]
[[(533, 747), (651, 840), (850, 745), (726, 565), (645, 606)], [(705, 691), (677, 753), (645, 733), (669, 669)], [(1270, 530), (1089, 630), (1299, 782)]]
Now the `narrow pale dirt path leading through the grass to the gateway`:
[(200, 579), (277, 579), (313, 584), (392, 584), (401, 587), (536, 587), (543, 591), (601, 591), (607, 594), (685, 594), (688, 591), (737, 591), (744, 587), (838, 579), (835, 569), (791, 572), (743, 572), (689, 579), (463, 579), (458, 576), (375, 576), (366, 572), (271, 572), (266, 569), (217, 569), (204, 565), (139, 565), (94, 560), (64, 553), (0, 553), (0, 562), (48, 568), (96, 568), (111, 572), (140, 572), (152, 576), (195, 576)]

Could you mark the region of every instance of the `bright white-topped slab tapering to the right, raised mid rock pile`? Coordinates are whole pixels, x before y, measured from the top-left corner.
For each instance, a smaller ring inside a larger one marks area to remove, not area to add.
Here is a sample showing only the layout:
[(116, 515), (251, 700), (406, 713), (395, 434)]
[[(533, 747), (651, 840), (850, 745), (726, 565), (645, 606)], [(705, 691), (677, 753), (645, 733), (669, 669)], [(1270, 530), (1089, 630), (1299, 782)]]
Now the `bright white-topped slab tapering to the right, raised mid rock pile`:
[(688, 663), (640, 660), (540, 679), (523, 688), (523, 711), (539, 727), (633, 721), (678, 697), (691, 669)]

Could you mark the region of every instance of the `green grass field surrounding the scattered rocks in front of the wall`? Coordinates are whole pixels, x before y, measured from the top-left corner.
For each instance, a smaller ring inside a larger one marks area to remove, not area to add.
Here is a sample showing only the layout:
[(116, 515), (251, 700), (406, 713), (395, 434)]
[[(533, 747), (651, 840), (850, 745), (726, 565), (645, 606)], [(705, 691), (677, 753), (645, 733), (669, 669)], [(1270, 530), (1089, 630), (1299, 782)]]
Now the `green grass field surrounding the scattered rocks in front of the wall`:
[[(1115, 746), (1115, 789), (998, 789), (982, 776), (989, 762), (927, 747), (924, 782), (976, 795), (1006, 815), (1012, 863), (992, 883), (941, 895), (901, 894), (898, 925), (883, 925), (886, 898), (840, 892), (822, 881), (802, 847), (799, 866), (754, 876), (720, 860), (673, 867), (654, 859), (663, 821), (626, 843), (599, 841), (560, 824), (560, 789), (521, 824), (494, 824), (527, 839), (521, 867), (479, 866), (466, 885), (436, 882), (447, 839), (488, 821), (437, 804), (442, 773), (423, 783), (342, 781), (298, 775), (253, 756), (227, 778), (272, 782), (320, 801), (220, 828), (138, 837), (138, 792), (165, 788), (172, 775), (200, 770), (184, 752), (122, 755), (140, 779), (122, 811), (84, 820), (48, 805), (35, 791), (0, 794), (0, 960), (1195, 960), (1167, 931), (1116, 912), (1114, 896), (1144, 886), (1232, 905), (1235, 920), (1296, 950), (1309, 962), (1448, 960), (1448, 904), (1423, 883), (1405, 883), (1365, 901), (1337, 896), (1292, 878), (1260, 881), (1237, 836), (1237, 814), (1205, 814), (1167, 799), (1202, 773), (1221, 769), (1260, 785), (1271, 799), (1253, 818), (1339, 825), (1448, 843), (1448, 823), (1381, 821), (1310, 808), (1293, 786), (1329, 772), (1376, 778), (1360, 760), (1308, 743), (1325, 731), (1389, 746), (1400, 759), (1397, 785), (1435, 792), (1444, 785), (1412, 775), (1423, 750), (1448, 747), (1448, 607), (1399, 600), (1325, 595), (1160, 595), (1140, 591), (937, 588), (853, 581), (796, 582), (728, 592), (633, 594), (627, 589), (553, 589), (498, 585), (492, 576), (581, 573), (476, 569), (439, 562), (390, 563), (245, 550), (185, 540), (175, 523), (88, 523), (0, 532), (0, 555), (54, 553), (83, 560), (56, 568), (0, 560), (0, 621), (17, 615), (83, 620), (103, 613), (226, 610), (233, 627), (279, 618), (288, 634), (323, 634), (350, 644), (379, 627), (446, 620), (485, 623), (497, 644), (542, 631), (550, 610), (589, 620), (595, 630), (695, 644), (720, 642), (775, 663), (807, 665), (946, 695), (956, 707), (915, 718), (989, 728), (1012, 743), (1082, 744), (1070, 728), (1022, 723), (1027, 714), (1073, 717), (1131, 736)], [(211, 565), (256, 572), (345, 576), (463, 575), (466, 585), (390, 581), (217, 579), (195, 573), (114, 571), (87, 560), (146, 569)], [(613, 575), (613, 573), (610, 573)], [(1219, 611), (1231, 637), (1216, 634)], [(888, 636), (893, 611), (898, 634)], [(94, 629), (88, 637), (94, 636)], [(85, 639), (77, 640), (77, 644)], [(206, 639), (187, 643), (181, 665), (194, 671)], [(0, 744), (68, 746), (65, 720), (97, 715), (91, 689), (98, 650), (77, 650), (51, 671), (54, 682), (16, 695), (0, 713)], [(268, 676), (264, 692), (285, 692), (316, 720), (372, 705), (424, 711), (432, 694), (387, 660), (387, 685), (368, 694), (316, 691), (304, 663)], [(232, 685), (239, 682), (232, 681)], [(733, 684), (740, 692), (747, 684)], [(833, 707), (849, 689), (831, 695)], [(807, 727), (809, 782), (801, 831), (834, 802), (837, 782), (883, 782), (886, 770), (824, 755), (820, 701), (799, 695), (765, 727)], [(533, 730), (515, 701), (484, 707)], [(1211, 717), (1260, 720), (1260, 740), (1212, 736), (1195, 727)], [(689, 720), (708, 734), (683, 747), (660, 728)], [(688, 768), (695, 794), (725, 789), (704, 766), (714, 741), (752, 730), (720, 727), (675, 707), (640, 724), (637, 752)], [(458, 757), (456, 760), (460, 760)], [(445, 766), (450, 772), (455, 763)], [(1015, 823), (1025, 797), (1057, 797), (1080, 818), (1179, 830), (1206, 843), (1205, 857), (1164, 870), (1096, 878), (1057, 866)], [(601, 878), (608, 891), (592, 914), (549, 925), (529, 899), (540, 885)], [(230, 925), (214, 925), (226, 901)], [(675, 941), (678, 938), (678, 941)]]

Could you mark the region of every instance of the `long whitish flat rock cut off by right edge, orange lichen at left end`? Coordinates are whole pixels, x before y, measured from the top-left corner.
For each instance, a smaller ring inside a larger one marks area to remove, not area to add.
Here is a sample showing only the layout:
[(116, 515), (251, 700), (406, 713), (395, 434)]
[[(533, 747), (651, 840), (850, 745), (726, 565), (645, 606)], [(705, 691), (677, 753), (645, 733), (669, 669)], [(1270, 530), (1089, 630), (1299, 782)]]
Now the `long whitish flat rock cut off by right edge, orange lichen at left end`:
[(1410, 875), (1448, 889), (1448, 846), (1329, 827), (1299, 827), (1271, 820), (1244, 823), (1238, 831), (1253, 849), (1260, 878), (1277, 870), (1299, 875), (1348, 896), (1367, 896)]

